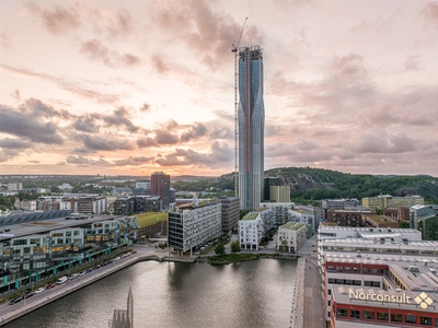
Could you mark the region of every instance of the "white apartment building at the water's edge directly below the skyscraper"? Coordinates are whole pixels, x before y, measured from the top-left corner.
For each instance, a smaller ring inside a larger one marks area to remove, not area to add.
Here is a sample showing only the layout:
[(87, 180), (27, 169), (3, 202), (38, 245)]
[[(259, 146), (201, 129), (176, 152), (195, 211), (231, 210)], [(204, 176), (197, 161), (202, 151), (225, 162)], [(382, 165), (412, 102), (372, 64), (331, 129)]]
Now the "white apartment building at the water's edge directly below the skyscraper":
[(258, 244), (267, 231), (275, 226), (270, 209), (252, 211), (239, 220), (239, 238), (242, 249), (258, 250)]

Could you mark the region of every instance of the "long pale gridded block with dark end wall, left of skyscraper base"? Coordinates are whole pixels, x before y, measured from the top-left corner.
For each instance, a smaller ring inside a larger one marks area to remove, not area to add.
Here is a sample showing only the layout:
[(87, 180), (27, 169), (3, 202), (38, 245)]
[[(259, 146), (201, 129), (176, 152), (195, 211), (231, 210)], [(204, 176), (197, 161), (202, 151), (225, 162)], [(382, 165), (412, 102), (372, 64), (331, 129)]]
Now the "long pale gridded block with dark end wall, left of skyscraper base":
[(221, 203), (217, 200), (186, 203), (169, 212), (169, 247), (192, 250), (221, 234)]

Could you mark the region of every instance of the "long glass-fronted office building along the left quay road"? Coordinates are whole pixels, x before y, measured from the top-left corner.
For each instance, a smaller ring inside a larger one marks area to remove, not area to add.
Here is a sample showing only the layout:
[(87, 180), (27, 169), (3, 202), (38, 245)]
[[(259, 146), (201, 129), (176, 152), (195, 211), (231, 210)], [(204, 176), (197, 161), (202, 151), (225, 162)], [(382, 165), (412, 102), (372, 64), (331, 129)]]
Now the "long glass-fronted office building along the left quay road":
[[(59, 212), (66, 216), (70, 211)], [(97, 259), (138, 238), (135, 216), (90, 222), (65, 221), (56, 214), (34, 212), (28, 218), (10, 215), (2, 220), (11, 233), (0, 233), (0, 293), (28, 281), (38, 282), (83, 260)], [(22, 224), (35, 221), (47, 224)]]

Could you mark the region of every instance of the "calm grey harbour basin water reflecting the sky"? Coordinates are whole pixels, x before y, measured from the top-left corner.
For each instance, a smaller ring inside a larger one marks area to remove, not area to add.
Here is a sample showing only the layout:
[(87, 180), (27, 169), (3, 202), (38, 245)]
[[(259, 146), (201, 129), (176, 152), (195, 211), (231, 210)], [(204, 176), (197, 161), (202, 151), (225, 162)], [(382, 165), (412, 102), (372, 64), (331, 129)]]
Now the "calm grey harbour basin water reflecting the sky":
[(107, 328), (134, 296), (134, 327), (289, 327), (297, 262), (228, 266), (145, 261), (46, 305), (5, 328)]

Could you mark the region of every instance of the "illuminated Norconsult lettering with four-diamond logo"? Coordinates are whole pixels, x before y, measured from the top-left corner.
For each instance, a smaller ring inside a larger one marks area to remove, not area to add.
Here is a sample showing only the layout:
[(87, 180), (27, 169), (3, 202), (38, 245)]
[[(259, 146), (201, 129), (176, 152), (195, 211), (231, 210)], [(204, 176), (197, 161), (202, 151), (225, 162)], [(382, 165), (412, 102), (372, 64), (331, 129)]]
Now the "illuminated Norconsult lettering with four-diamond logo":
[[(387, 295), (379, 293), (364, 293), (359, 291), (348, 290), (348, 297), (351, 300), (361, 301), (373, 301), (373, 302), (387, 302), (387, 303), (399, 303), (399, 304), (418, 304), (422, 308), (427, 308), (428, 305), (434, 303), (434, 301), (426, 294), (420, 293), (417, 297), (412, 300), (406, 293), (401, 295)], [(415, 301), (415, 303), (413, 302)]]

